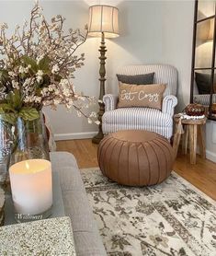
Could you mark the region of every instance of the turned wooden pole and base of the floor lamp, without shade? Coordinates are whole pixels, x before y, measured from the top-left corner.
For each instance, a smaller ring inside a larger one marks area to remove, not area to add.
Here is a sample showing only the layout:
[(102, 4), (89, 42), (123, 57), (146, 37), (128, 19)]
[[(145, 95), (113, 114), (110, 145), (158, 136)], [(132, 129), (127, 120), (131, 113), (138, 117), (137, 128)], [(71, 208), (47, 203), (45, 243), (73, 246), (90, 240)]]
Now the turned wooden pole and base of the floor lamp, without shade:
[(101, 33), (101, 43), (100, 43), (100, 48), (98, 50), (100, 52), (99, 60), (100, 60), (100, 69), (99, 69), (99, 81), (100, 81), (100, 92), (99, 92), (99, 98), (98, 98), (98, 105), (99, 105), (99, 111), (97, 112), (97, 119), (100, 122), (98, 125), (98, 133), (95, 137), (93, 137), (92, 142), (95, 144), (99, 144), (99, 142), (103, 139), (104, 134), (102, 131), (102, 116), (105, 112), (105, 105), (103, 102), (103, 97), (105, 95), (105, 81), (106, 81), (106, 59), (107, 57), (105, 56), (107, 49), (105, 45), (105, 36), (104, 32)]

